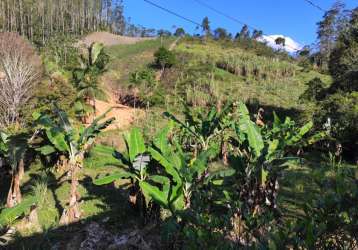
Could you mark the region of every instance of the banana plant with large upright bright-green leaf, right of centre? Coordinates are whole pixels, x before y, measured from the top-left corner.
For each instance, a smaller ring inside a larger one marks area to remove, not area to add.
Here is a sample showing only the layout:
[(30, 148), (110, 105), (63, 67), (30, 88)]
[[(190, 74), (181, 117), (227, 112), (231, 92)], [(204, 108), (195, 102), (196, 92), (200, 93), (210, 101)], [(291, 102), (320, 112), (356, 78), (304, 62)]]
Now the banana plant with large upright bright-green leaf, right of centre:
[(240, 204), (240, 216), (262, 218), (265, 211), (274, 211), (277, 207), (278, 177), (282, 170), (290, 161), (298, 160), (297, 157), (289, 157), (282, 152), (287, 152), (288, 146), (301, 143), (303, 136), (310, 130), (310, 124), (298, 129), (290, 137), (275, 137), (283, 133), (281, 128), (277, 125), (259, 128), (251, 121), (245, 104), (238, 103), (235, 112), (238, 116), (233, 143), (235, 161), (232, 167), (235, 172), (231, 173), (228, 169), (212, 173), (206, 184), (215, 186), (217, 195), (213, 199), (217, 204), (230, 207)]

